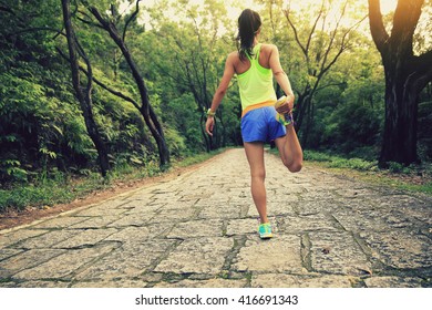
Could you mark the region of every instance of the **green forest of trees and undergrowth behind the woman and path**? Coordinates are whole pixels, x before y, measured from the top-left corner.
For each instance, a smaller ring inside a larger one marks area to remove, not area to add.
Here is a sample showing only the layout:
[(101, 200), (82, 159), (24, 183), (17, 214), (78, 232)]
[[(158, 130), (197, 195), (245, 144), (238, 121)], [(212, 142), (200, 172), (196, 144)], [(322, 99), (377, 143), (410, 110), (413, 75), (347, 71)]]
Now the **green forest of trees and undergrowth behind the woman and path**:
[(0, 0), (0, 211), (11, 190), (241, 146), (236, 81), (204, 125), (246, 3), (306, 151), (432, 162), (432, 0)]

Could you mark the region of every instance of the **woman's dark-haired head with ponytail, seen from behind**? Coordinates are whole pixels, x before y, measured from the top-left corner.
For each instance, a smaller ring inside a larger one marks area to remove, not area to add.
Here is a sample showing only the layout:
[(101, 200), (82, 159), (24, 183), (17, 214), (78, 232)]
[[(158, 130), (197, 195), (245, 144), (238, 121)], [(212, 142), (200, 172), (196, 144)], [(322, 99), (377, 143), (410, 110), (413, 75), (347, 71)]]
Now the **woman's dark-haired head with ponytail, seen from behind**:
[(255, 34), (261, 27), (261, 18), (259, 14), (250, 9), (246, 9), (238, 18), (238, 35), (237, 50), (240, 60), (244, 61), (246, 55), (253, 56)]

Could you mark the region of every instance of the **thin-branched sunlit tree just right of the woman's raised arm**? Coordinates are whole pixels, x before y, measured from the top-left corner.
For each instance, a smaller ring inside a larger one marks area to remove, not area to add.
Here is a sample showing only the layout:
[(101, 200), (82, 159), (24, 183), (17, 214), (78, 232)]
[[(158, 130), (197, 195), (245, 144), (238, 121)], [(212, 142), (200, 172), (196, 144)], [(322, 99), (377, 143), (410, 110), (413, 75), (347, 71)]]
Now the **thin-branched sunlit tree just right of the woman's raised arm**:
[[(335, 21), (331, 21), (335, 4), (337, 3), (322, 0), (318, 10), (315, 9), (317, 6), (313, 4), (308, 10), (294, 12), (291, 1), (289, 1), (288, 7), (284, 9), (285, 18), (304, 59), (298, 65), (304, 81), (300, 85), (294, 85), (298, 97), (297, 111), (295, 112), (296, 130), (301, 130), (300, 138), (304, 146), (308, 143), (308, 136), (315, 122), (313, 96), (322, 89), (344, 83), (343, 80), (326, 81), (325, 78), (342, 53), (353, 48), (353, 42), (357, 39), (354, 30), (366, 19), (366, 17), (360, 17), (358, 21), (352, 21), (351, 25), (344, 25), (349, 8), (353, 8), (352, 1), (344, 0), (340, 2), (340, 10)], [(302, 17), (301, 22), (299, 21), (300, 17)], [(299, 27), (300, 23), (306, 24), (310, 21), (312, 21), (311, 24)], [(296, 56), (296, 59), (299, 58)]]

